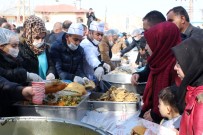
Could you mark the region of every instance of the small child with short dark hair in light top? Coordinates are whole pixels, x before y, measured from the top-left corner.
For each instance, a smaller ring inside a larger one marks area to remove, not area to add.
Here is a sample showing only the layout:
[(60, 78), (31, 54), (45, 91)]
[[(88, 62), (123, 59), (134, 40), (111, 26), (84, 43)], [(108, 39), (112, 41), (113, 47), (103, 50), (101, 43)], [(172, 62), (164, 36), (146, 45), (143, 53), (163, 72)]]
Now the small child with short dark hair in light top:
[[(166, 87), (159, 92), (159, 112), (164, 119), (161, 125), (167, 128), (179, 129), (181, 115), (177, 106), (175, 96), (175, 86)], [(166, 120), (167, 118), (168, 120)]]

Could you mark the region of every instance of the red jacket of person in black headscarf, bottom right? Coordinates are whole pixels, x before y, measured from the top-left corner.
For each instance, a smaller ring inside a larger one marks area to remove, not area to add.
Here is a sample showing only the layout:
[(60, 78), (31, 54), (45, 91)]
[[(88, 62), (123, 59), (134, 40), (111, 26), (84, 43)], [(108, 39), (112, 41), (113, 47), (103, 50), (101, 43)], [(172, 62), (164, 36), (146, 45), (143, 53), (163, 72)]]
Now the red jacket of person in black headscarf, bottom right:
[(203, 86), (187, 87), (186, 107), (180, 123), (179, 135), (203, 134), (203, 103), (197, 101), (197, 95), (203, 93)]

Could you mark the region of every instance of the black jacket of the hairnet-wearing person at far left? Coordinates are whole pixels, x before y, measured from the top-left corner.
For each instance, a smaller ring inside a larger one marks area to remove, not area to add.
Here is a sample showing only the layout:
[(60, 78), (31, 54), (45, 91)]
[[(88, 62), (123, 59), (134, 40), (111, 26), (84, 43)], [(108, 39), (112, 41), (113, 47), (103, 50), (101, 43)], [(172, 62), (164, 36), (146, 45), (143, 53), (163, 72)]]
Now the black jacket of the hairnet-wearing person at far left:
[(21, 65), (22, 59), (13, 58), (0, 51), (0, 76), (9, 81), (24, 84), (27, 80), (27, 71)]

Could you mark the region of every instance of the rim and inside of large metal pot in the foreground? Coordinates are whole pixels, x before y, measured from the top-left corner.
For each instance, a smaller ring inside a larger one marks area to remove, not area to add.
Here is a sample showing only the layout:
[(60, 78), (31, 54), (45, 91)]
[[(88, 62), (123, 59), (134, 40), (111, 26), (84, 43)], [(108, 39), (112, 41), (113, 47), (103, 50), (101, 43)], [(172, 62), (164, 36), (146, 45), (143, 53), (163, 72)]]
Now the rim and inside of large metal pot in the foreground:
[(108, 135), (94, 126), (59, 118), (8, 117), (0, 123), (0, 135)]

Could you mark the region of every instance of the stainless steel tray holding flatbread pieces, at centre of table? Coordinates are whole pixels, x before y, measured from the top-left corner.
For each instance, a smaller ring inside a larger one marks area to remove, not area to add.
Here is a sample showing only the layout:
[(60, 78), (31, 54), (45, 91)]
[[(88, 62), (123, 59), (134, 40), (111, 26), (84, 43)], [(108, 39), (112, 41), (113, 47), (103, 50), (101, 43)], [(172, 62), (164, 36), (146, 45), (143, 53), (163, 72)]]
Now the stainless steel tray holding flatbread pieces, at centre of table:
[(114, 101), (97, 101), (97, 99), (103, 93), (94, 92), (90, 94), (88, 100), (88, 107), (90, 110), (96, 110), (102, 108), (107, 111), (127, 111), (127, 112), (139, 112), (141, 107), (140, 96), (138, 102), (114, 102)]

